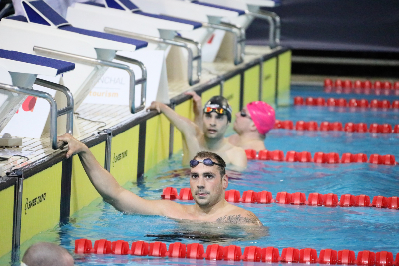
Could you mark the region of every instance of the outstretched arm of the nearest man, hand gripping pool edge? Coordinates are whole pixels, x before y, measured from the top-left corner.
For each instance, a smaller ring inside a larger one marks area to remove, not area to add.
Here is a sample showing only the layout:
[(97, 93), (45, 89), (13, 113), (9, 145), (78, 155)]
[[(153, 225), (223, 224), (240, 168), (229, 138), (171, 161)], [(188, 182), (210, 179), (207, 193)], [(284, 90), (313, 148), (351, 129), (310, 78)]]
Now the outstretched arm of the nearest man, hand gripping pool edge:
[(70, 134), (59, 136), (57, 140), (68, 143), (67, 158), (74, 154), (79, 155), (83, 168), (95, 189), (106, 202), (117, 210), (127, 213), (166, 215), (166, 210), (173, 211), (173, 209), (179, 208), (177, 206), (179, 204), (176, 202), (146, 200), (121, 187), (115, 178), (98, 163), (89, 148)]

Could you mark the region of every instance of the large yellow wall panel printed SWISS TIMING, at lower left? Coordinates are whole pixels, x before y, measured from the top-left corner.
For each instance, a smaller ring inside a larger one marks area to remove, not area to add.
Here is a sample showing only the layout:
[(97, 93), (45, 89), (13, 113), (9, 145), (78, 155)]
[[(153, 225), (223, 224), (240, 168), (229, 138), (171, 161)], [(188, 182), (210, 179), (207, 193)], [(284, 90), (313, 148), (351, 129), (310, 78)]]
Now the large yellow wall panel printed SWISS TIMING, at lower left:
[(62, 162), (23, 181), (21, 243), (59, 222)]

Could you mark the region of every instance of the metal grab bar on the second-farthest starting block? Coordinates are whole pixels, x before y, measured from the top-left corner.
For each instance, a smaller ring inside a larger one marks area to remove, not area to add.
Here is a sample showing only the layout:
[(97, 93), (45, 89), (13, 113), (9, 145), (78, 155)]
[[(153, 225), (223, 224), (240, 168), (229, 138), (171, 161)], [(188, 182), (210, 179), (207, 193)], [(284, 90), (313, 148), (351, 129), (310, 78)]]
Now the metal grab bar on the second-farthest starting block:
[(241, 64), (245, 57), (245, 29), (230, 23), (221, 22), (220, 24), (201, 22), (203, 27), (220, 29), (234, 34), (234, 65)]

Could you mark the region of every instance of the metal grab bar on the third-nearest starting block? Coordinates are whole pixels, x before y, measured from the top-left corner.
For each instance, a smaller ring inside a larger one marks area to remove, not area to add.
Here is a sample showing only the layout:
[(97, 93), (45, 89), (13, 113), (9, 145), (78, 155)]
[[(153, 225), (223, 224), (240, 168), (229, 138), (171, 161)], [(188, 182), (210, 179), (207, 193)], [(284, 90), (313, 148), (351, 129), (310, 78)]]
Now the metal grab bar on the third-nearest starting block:
[[(134, 39), (143, 40), (143, 41), (147, 41), (147, 42), (153, 42), (153, 43), (164, 43), (164, 44), (178, 46), (178, 47), (182, 47), (182, 48), (186, 49), (189, 54), (188, 63), (187, 63), (187, 78), (189, 80), (189, 84), (194, 85), (194, 84), (197, 84), (200, 82), (201, 69), (202, 69), (202, 56), (201, 56), (201, 44), (200, 43), (193, 41), (193, 40), (185, 39), (185, 38), (181, 38), (182, 41), (163, 39), (163, 38), (152, 37), (152, 36), (147, 36), (147, 35), (143, 35), (143, 34), (138, 34), (138, 33), (120, 30), (120, 29), (108, 28), (108, 27), (105, 27), (104, 31), (107, 33), (111, 33), (111, 34), (115, 34), (115, 35), (119, 35), (119, 36), (123, 36), (123, 37), (134, 38)], [(197, 47), (198, 53), (197, 53), (196, 57), (194, 57), (193, 50), (190, 48), (190, 46), (183, 42), (183, 39), (185, 42), (192, 43)], [(196, 80), (193, 80), (193, 61), (198, 61), (198, 63), (197, 63), (197, 79)]]

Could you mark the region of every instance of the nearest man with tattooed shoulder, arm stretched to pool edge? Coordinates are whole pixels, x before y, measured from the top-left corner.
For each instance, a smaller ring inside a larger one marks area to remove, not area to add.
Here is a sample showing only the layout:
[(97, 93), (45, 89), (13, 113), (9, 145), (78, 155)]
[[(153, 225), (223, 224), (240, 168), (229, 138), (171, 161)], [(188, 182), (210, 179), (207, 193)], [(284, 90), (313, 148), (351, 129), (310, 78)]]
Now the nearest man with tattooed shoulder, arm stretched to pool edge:
[(228, 186), (226, 163), (216, 153), (201, 151), (190, 161), (190, 189), (195, 204), (182, 205), (171, 200), (147, 200), (137, 196), (121, 187), (98, 163), (85, 144), (70, 134), (64, 134), (57, 139), (68, 143), (67, 158), (73, 154), (79, 155), (83, 168), (98, 193), (104, 201), (121, 212), (219, 224), (262, 226), (252, 212), (224, 199)]

